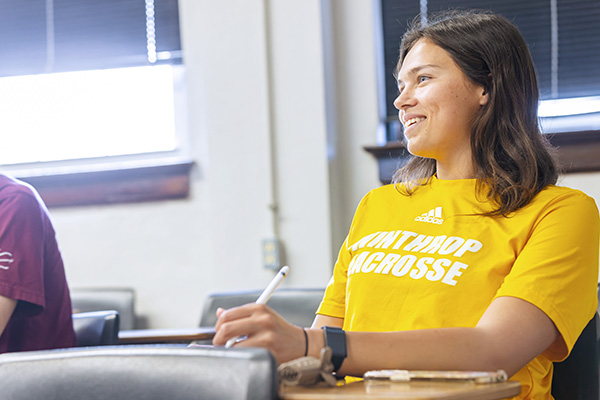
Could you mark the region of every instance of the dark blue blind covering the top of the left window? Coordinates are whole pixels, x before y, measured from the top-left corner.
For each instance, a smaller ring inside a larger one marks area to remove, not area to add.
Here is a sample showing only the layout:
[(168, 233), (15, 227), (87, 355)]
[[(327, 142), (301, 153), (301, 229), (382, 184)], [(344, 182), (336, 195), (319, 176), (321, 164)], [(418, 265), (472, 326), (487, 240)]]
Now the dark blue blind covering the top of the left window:
[(177, 64), (177, 0), (0, 0), (0, 76)]

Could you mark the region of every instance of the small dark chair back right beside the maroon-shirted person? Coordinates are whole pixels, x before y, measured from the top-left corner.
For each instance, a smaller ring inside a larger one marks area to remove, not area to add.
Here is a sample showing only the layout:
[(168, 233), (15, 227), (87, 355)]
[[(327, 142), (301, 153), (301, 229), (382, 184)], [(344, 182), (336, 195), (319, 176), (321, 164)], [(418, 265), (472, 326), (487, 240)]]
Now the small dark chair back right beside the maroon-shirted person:
[(77, 347), (119, 344), (119, 313), (115, 310), (73, 314)]

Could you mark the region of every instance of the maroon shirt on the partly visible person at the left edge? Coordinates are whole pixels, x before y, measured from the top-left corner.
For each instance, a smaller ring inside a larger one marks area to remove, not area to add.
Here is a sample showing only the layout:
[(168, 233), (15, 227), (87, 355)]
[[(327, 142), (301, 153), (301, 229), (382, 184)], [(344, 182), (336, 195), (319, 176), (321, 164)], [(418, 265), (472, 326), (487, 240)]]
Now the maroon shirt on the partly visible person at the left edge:
[(75, 346), (69, 287), (48, 211), (32, 187), (4, 175), (0, 295), (17, 300), (0, 353)]

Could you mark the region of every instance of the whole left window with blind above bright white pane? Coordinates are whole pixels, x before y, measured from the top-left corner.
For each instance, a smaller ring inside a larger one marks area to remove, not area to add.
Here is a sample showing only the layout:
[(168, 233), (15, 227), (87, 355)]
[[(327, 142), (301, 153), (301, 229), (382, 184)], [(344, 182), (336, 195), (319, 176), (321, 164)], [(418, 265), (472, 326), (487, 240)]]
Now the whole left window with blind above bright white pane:
[(4, 170), (44, 186), (38, 175), (182, 163), (177, 0), (3, 0), (0, 36)]

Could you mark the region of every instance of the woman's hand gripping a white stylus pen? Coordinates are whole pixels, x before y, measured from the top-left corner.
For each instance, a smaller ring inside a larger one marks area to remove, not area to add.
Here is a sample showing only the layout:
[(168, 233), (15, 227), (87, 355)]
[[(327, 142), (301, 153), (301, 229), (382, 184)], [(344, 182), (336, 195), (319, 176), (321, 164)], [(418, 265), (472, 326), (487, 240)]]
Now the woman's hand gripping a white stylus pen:
[(305, 339), (301, 327), (292, 325), (264, 304), (246, 304), (217, 310), (215, 346), (224, 346), (227, 340), (246, 336), (236, 347), (264, 347), (279, 363), (304, 356)]

